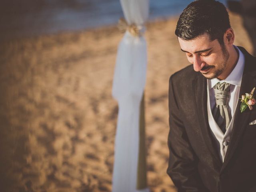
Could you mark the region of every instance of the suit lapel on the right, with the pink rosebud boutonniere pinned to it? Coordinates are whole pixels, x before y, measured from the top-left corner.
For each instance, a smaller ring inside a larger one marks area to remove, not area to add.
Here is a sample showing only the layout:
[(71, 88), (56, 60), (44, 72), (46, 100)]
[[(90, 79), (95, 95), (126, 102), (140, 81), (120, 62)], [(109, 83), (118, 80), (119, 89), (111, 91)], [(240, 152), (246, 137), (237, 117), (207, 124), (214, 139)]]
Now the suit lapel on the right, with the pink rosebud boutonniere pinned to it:
[[(252, 56), (250, 56), (250, 54), (248, 54), (246, 50), (244, 50), (243, 48), (240, 48), (240, 50), (244, 53), (245, 56), (245, 66), (242, 76), (241, 88), (239, 92), (239, 98), (242, 98), (243, 94), (250, 93), (252, 91), (252, 88), (256, 86), (256, 79), (254, 77), (255, 70), (252, 68), (253, 65), (256, 65), (256, 63), (252, 63), (253, 61), (255, 62), (255, 59)], [(239, 100), (234, 116), (234, 125), (230, 138), (230, 144), (228, 146), (228, 150), (220, 172), (222, 172), (226, 165), (228, 164), (228, 162), (230, 162), (230, 159), (232, 158), (232, 155), (234, 154), (238, 146), (239, 140), (242, 137), (242, 134), (248, 124), (248, 119), (250, 117), (251, 111), (247, 108), (244, 112), (241, 113), (240, 105), (241, 102)]]

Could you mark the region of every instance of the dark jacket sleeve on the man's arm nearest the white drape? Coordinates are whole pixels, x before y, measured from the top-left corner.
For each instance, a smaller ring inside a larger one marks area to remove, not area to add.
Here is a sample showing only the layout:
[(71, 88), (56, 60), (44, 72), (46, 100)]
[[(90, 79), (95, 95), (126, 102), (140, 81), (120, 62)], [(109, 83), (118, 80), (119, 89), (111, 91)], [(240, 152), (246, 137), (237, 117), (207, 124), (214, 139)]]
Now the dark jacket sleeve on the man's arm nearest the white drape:
[(170, 156), (167, 174), (178, 188), (178, 192), (208, 192), (198, 173), (198, 158), (190, 145), (182, 122), (182, 115), (177, 102), (179, 93), (176, 95), (174, 93), (172, 77), (169, 81), (170, 132), (168, 134), (168, 147)]

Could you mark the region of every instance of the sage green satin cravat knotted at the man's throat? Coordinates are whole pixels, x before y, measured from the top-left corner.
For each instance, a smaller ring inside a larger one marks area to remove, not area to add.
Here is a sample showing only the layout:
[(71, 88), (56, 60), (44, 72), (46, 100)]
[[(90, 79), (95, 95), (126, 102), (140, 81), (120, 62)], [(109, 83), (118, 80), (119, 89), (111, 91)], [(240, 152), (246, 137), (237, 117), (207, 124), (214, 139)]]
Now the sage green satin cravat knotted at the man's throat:
[(212, 114), (216, 123), (218, 124), (218, 126), (220, 127), (224, 134), (232, 118), (231, 109), (228, 106), (228, 99), (230, 95), (229, 90), (230, 84), (226, 82), (217, 83), (214, 86), (216, 107), (214, 108)]

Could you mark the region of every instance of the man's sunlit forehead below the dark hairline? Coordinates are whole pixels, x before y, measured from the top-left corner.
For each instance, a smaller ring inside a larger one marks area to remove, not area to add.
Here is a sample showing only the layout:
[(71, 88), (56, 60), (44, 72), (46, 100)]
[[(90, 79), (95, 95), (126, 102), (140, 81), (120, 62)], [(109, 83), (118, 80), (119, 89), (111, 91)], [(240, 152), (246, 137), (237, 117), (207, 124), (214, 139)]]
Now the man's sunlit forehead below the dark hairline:
[(178, 41), (180, 43), (180, 48), (190, 53), (220, 46), (217, 39), (210, 41), (208, 34), (200, 35), (192, 40), (184, 40), (178, 37)]

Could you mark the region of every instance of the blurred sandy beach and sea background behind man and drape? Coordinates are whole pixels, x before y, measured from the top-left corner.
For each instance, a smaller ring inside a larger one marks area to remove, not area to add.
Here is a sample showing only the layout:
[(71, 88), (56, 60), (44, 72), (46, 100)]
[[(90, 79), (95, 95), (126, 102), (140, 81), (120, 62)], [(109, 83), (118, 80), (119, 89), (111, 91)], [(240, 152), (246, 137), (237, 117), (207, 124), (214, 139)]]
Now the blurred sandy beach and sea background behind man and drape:
[[(189, 64), (174, 30), (190, 2), (150, 1), (145, 118), (152, 192), (176, 191), (166, 174), (168, 79)], [(220, 2), (230, 8), (235, 44), (253, 54), (255, 2)], [(118, 114), (111, 89), (122, 16), (119, 0), (1, 1), (1, 191), (111, 191)]]

